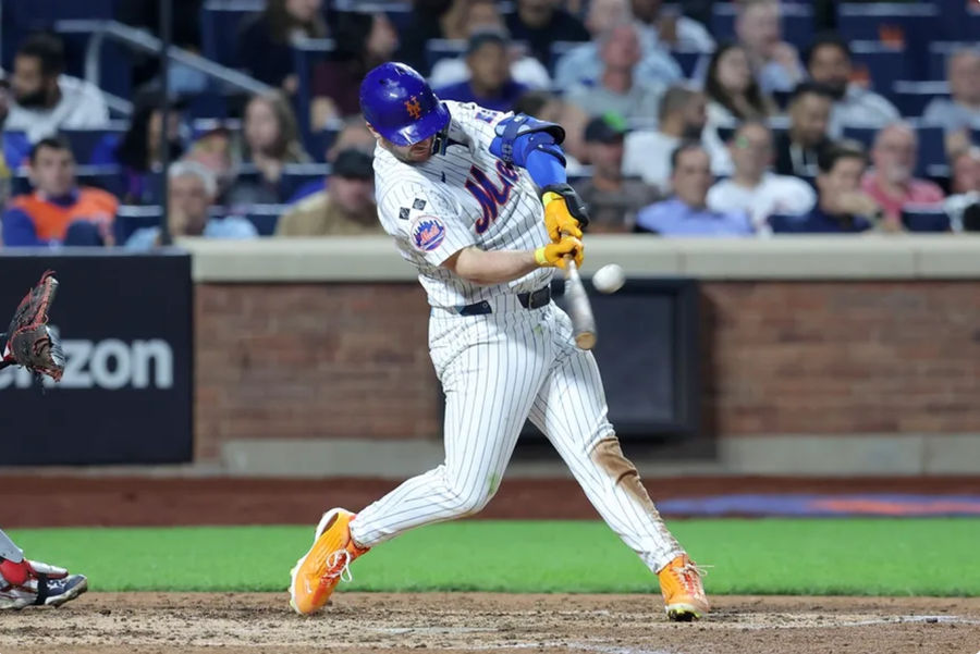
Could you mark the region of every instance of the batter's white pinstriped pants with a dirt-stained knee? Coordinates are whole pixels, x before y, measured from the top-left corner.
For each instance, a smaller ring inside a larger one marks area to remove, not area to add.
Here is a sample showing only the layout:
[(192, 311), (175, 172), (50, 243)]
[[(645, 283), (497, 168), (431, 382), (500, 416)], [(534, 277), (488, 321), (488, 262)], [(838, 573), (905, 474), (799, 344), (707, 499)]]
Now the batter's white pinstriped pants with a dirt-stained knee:
[(432, 309), (429, 351), (445, 392), (445, 461), (405, 481), (351, 523), (373, 546), (414, 527), (471, 515), (497, 492), (525, 419), (546, 434), (605, 522), (659, 571), (682, 548), (622, 457), (591, 353), (553, 303), (524, 309), (494, 298), (494, 312)]

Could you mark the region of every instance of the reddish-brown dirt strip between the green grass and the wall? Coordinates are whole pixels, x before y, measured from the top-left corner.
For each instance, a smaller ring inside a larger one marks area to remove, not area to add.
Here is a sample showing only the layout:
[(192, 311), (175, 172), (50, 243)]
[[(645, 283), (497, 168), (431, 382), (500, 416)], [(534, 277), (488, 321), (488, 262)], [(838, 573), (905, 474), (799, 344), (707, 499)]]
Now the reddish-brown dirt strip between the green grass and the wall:
[[(975, 493), (978, 478), (645, 479), (654, 502), (722, 493)], [(324, 509), (358, 510), (397, 485), (381, 479), (0, 476), (0, 527), (315, 523)], [(479, 518), (596, 519), (569, 479), (505, 479)], [(980, 645), (978, 645), (980, 649)], [(5, 654), (5, 653), (3, 653)], [(972, 654), (972, 653), (971, 653)]]

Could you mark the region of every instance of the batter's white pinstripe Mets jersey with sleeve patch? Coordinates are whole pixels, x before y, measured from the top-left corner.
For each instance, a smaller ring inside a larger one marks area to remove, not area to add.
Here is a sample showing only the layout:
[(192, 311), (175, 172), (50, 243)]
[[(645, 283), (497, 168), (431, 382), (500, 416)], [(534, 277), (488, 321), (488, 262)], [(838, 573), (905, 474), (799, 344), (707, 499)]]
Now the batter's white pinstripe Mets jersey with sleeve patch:
[(445, 155), (408, 164), (375, 149), (378, 214), (434, 307), (537, 291), (554, 271), (541, 268), (505, 284), (478, 286), (440, 264), (468, 246), (532, 250), (550, 243), (537, 188), (527, 171), (490, 153), (494, 126), (510, 113), (445, 101), (452, 116)]

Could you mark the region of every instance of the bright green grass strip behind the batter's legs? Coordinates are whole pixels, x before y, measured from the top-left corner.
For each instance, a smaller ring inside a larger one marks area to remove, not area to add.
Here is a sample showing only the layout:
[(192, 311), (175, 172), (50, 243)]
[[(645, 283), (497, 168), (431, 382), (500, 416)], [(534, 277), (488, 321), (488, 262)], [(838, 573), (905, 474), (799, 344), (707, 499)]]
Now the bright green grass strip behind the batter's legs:
[[(714, 594), (980, 595), (980, 520), (675, 520)], [(22, 529), (28, 556), (96, 591), (279, 591), (309, 527)], [(625, 593), (656, 579), (601, 522), (468, 520), (419, 529), (354, 566), (348, 590)]]

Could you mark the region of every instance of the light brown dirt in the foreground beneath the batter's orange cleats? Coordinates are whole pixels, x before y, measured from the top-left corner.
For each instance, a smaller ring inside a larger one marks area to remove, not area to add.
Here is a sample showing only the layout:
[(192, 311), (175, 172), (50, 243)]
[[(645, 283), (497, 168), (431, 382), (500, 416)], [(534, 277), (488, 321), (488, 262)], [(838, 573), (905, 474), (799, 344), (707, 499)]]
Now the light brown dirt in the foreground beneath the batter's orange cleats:
[(716, 597), (667, 622), (648, 595), (339, 595), (314, 618), (285, 593), (90, 593), (0, 620), (3, 654), (598, 652), (957, 653), (980, 650), (980, 599)]

